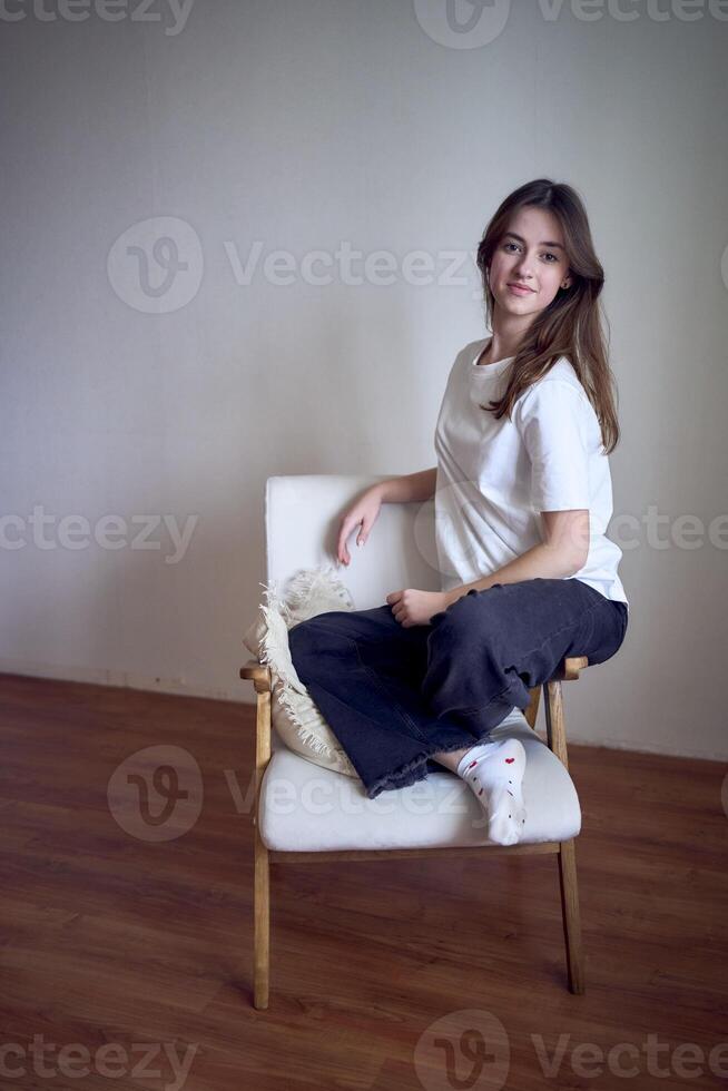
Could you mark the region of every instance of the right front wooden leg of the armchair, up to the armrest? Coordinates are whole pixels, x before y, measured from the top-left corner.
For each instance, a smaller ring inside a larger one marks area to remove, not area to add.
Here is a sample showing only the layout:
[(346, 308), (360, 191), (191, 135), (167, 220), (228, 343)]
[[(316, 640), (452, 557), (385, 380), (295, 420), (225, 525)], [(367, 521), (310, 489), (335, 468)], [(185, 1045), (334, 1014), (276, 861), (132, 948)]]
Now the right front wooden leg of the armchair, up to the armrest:
[[(563, 700), (561, 682), (544, 682), (547, 738), (551, 750), (564, 768), (569, 768), (567, 756), (567, 733), (563, 721)], [(559, 885), (561, 888), (561, 917), (563, 937), (567, 946), (567, 971), (569, 990), (582, 994), (586, 989), (584, 960), (581, 944), (581, 917), (579, 913), (579, 887), (577, 884), (577, 856), (573, 838), (562, 841), (559, 846)]]

